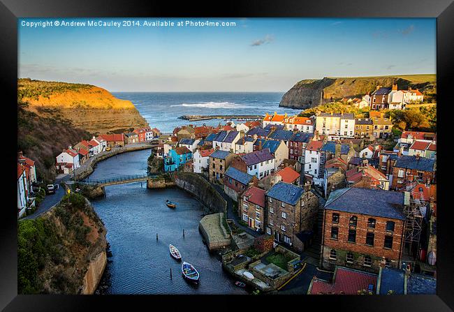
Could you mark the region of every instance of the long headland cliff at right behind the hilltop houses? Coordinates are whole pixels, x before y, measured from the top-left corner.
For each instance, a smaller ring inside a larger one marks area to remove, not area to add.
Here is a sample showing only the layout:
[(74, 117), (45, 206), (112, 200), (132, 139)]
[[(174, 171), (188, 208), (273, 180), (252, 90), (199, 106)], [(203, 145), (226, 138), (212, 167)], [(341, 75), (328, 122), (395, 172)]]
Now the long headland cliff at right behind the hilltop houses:
[(281, 107), (306, 109), (332, 99), (353, 98), (367, 94), (376, 89), (376, 86), (391, 87), (397, 83), (399, 89), (433, 88), (436, 84), (435, 75), (403, 75), (386, 77), (325, 77), (319, 80), (301, 80), (282, 96)]

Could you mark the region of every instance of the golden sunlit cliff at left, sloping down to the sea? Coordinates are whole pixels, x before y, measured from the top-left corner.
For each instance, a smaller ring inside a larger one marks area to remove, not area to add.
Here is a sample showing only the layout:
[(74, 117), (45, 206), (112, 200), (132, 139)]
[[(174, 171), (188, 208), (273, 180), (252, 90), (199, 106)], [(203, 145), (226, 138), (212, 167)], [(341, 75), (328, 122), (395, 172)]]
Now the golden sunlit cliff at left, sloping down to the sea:
[(120, 100), (107, 90), (89, 84), (20, 79), (18, 99), (42, 117), (71, 120), (90, 133), (127, 131), (148, 126), (131, 101)]

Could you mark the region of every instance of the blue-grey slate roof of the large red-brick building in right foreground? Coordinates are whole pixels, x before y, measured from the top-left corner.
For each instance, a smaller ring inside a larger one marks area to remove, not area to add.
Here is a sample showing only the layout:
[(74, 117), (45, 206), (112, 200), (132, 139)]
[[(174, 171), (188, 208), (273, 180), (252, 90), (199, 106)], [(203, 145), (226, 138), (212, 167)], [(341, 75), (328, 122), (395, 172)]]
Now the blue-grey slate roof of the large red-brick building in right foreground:
[(325, 209), (405, 220), (404, 193), (369, 188), (340, 188), (330, 193)]

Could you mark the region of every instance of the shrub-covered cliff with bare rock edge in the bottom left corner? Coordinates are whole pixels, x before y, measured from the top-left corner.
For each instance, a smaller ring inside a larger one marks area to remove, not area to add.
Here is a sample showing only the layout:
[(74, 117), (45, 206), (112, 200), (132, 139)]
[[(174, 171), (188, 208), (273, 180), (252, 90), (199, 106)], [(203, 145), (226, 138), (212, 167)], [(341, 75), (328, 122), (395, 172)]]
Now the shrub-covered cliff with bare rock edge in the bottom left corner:
[(106, 230), (81, 195), (34, 220), (18, 223), (17, 274), (20, 294), (89, 295), (107, 262)]

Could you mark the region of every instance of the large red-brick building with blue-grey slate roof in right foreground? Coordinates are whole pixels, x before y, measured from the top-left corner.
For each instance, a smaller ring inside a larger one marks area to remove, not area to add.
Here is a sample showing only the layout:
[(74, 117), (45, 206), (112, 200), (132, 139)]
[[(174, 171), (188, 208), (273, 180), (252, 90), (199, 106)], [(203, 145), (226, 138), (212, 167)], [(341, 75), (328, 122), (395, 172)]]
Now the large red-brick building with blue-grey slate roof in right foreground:
[(390, 267), (400, 267), (403, 207), (404, 193), (368, 188), (332, 191), (323, 211), (321, 267), (378, 272), (382, 257)]

